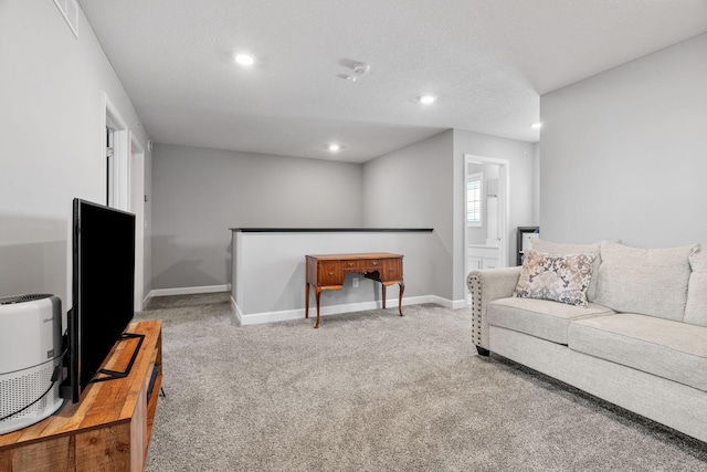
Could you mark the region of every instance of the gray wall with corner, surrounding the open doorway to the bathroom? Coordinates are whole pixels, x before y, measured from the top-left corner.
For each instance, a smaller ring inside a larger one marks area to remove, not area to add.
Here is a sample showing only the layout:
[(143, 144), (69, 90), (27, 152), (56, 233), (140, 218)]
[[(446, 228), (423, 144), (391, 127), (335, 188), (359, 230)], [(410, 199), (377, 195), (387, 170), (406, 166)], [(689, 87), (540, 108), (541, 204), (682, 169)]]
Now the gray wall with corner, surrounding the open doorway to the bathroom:
[[(433, 294), (465, 304), (465, 154), (510, 161), (510, 230), (536, 221), (534, 145), (449, 130), (363, 165), (363, 220), (368, 227), (434, 228)], [(513, 252), (511, 252), (513, 254)]]

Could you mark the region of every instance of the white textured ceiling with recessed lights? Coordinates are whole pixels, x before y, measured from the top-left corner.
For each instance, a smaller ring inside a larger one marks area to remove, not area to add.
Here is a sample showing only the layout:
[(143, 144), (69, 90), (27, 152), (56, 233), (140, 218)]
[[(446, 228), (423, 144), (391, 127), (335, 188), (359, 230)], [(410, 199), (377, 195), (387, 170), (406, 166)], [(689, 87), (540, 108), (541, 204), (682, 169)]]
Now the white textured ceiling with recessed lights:
[(537, 141), (541, 94), (707, 32), (705, 0), (80, 3), (155, 141), (352, 162), (449, 128)]

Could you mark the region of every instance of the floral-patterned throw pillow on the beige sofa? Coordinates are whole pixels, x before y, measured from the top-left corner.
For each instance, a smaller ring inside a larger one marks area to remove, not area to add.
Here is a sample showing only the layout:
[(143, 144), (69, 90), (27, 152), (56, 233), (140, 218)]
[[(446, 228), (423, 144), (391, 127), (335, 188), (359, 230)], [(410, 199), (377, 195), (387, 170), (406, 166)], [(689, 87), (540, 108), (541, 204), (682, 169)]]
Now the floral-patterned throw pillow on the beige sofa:
[(597, 254), (527, 251), (513, 296), (587, 306), (587, 287)]

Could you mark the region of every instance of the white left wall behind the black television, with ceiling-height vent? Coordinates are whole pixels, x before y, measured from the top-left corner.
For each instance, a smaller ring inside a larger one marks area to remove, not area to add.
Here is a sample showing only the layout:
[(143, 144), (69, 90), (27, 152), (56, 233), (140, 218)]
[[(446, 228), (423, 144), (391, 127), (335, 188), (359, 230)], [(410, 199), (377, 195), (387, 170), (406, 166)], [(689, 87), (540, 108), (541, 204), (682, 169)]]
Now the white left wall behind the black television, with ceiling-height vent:
[(72, 199), (105, 201), (104, 93), (147, 149), (83, 12), (78, 34), (50, 0), (0, 2), (0, 295), (54, 293), (64, 312)]

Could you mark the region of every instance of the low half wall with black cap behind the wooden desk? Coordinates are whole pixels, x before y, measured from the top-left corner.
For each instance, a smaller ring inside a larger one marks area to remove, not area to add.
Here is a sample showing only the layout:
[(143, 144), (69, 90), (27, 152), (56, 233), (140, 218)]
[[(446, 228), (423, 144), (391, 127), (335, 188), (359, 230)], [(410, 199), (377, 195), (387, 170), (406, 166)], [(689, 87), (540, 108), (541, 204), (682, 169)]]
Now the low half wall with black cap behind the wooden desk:
[[(305, 312), (306, 263), (304, 254), (392, 252), (403, 254), (405, 290), (403, 304), (441, 303), (430, 296), (430, 232), (234, 232), (236, 248), (231, 295), (236, 316), (244, 322), (297, 319)], [(354, 286), (358, 279), (359, 286)], [(340, 291), (324, 291), (321, 314), (374, 310), (382, 300), (381, 284), (358, 273), (348, 273)], [(309, 307), (316, 314), (314, 290)], [(390, 307), (398, 306), (398, 285), (387, 289)]]

